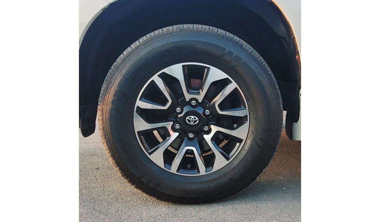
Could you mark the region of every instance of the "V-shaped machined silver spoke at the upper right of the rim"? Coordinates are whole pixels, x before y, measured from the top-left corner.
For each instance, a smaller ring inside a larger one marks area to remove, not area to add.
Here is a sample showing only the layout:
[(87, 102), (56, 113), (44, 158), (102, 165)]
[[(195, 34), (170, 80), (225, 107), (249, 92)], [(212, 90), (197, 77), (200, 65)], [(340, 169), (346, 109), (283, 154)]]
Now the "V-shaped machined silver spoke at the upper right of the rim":
[(219, 104), (223, 101), (223, 99), (225, 99), (236, 88), (240, 91), (240, 93), (242, 93), (236, 83), (230, 83), (211, 101), (210, 104), (215, 107), (219, 114), (236, 117), (244, 117), (245, 115), (248, 115), (248, 109), (244, 107), (224, 111), (219, 109)]

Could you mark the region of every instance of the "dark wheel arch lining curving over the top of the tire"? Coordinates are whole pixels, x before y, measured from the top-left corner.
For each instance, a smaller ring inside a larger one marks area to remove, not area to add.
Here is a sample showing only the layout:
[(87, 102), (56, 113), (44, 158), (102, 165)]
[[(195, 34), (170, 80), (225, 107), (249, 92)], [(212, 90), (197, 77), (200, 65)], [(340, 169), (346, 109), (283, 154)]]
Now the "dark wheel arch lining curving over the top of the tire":
[[(299, 118), (301, 61), (297, 41), (279, 6), (270, 0), (116, 0), (84, 30), (79, 47), (79, 127), (95, 131), (104, 79), (122, 52), (144, 35), (177, 24), (210, 25), (250, 44), (264, 58), (279, 85), (287, 125)], [(289, 123), (288, 123), (289, 122)], [(291, 138), (291, 129), (287, 130)]]

